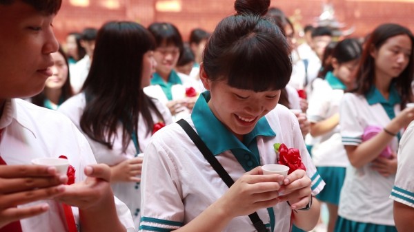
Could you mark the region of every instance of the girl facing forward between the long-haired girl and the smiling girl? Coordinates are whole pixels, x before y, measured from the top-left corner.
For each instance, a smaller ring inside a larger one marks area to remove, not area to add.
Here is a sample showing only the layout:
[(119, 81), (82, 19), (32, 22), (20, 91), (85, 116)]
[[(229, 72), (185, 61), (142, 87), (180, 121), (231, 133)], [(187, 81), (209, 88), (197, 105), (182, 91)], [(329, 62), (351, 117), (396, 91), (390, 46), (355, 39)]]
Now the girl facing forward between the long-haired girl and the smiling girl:
[[(164, 103), (178, 120), (190, 114), (197, 100), (199, 82), (185, 74), (175, 72), (175, 65), (184, 50), (179, 30), (171, 23), (152, 23), (148, 30), (155, 37), (154, 58), (157, 61), (151, 85), (144, 90), (148, 96)], [(188, 94), (188, 89), (193, 88)]]

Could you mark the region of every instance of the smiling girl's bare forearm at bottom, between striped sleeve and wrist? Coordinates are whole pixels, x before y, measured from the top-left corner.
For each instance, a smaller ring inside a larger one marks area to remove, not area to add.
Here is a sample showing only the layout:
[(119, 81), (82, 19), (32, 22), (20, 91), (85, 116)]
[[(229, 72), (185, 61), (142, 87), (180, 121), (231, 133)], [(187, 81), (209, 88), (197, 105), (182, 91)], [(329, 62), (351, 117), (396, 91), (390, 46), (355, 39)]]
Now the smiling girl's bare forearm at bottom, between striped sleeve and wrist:
[(220, 232), (223, 231), (233, 217), (221, 207), (219, 201), (214, 202), (197, 218), (177, 229), (177, 232)]

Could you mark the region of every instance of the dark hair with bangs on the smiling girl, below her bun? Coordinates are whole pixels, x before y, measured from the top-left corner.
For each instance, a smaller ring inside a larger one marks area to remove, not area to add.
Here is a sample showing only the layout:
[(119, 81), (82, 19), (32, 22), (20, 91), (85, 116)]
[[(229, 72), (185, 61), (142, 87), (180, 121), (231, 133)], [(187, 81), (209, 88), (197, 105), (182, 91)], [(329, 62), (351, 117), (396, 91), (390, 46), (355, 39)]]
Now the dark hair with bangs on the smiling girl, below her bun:
[(275, 23), (253, 15), (231, 16), (208, 41), (204, 70), (212, 81), (227, 80), (238, 89), (283, 89), (292, 74), (289, 45)]

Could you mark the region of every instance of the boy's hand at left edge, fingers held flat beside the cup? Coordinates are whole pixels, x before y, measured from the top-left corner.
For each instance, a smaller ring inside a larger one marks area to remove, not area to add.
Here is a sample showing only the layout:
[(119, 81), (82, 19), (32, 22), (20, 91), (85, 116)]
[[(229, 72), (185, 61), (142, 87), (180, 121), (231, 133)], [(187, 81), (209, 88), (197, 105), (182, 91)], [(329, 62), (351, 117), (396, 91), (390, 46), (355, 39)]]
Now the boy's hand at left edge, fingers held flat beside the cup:
[(0, 228), (48, 211), (49, 205), (44, 202), (21, 208), (16, 206), (59, 196), (65, 191), (63, 184), (67, 181), (66, 173), (59, 174), (56, 167), (1, 165)]

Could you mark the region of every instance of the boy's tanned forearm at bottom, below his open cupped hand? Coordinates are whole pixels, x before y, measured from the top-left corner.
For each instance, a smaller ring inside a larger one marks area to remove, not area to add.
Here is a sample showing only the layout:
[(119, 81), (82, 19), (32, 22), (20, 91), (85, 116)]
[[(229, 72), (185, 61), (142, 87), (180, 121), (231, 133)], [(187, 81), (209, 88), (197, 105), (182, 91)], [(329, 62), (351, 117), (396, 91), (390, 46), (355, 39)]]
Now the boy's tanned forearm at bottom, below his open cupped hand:
[(99, 207), (79, 210), (80, 227), (82, 232), (125, 232), (117, 215), (114, 198), (108, 198)]

